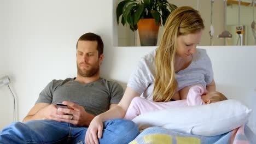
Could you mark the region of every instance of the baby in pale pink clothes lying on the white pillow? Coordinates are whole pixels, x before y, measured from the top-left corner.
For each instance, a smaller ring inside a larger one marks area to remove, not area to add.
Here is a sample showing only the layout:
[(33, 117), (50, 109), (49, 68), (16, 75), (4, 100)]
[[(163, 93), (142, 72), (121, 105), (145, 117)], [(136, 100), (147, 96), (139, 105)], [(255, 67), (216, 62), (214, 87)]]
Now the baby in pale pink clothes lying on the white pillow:
[[(181, 90), (182, 91), (182, 90)], [(189, 89), (187, 99), (169, 102), (155, 102), (141, 97), (132, 99), (131, 104), (124, 118), (133, 119), (142, 113), (150, 111), (170, 109), (171, 107), (184, 107), (193, 105), (205, 105), (227, 100), (220, 92), (206, 92), (205, 88), (199, 85), (192, 86)]]

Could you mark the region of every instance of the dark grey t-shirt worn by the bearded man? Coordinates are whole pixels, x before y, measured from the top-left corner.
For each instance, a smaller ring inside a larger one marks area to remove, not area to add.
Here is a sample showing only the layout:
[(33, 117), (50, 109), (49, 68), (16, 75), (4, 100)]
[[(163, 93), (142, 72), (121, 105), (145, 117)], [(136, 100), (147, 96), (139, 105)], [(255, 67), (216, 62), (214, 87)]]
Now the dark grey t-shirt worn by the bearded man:
[(51, 81), (39, 94), (36, 104), (72, 101), (83, 106), (86, 112), (99, 115), (109, 110), (110, 104), (119, 103), (123, 94), (123, 88), (114, 81), (100, 78), (95, 82), (82, 84), (68, 78)]

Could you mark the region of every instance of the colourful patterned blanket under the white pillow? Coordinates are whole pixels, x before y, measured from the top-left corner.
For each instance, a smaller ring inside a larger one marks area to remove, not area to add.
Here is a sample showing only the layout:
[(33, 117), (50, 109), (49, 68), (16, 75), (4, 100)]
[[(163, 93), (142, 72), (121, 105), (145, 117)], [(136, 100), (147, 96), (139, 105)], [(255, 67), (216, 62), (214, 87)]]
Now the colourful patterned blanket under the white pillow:
[(142, 131), (135, 140), (129, 144), (140, 143), (157, 143), (157, 144), (176, 144), (176, 143), (232, 143), (232, 144), (247, 144), (256, 143), (256, 135), (252, 132), (247, 125), (241, 125), (241, 127), (229, 131), (228, 133), (217, 136), (199, 136), (191, 134), (177, 133), (176, 131), (166, 130), (159, 127), (150, 127)]

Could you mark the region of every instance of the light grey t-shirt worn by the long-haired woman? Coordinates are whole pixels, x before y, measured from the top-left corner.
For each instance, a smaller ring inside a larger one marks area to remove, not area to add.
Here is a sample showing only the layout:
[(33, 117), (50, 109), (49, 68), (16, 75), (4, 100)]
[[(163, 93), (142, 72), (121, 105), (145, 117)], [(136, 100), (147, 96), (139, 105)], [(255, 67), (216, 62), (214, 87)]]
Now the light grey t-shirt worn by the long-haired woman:
[[(212, 63), (206, 50), (196, 50), (197, 52), (193, 55), (191, 64), (175, 74), (175, 79), (178, 83), (176, 91), (196, 83), (201, 83), (203, 87), (206, 87), (206, 85), (213, 80)], [(148, 100), (153, 100), (152, 92), (155, 81), (155, 52), (156, 49), (141, 58), (141, 61), (138, 62), (137, 67), (133, 70), (127, 83), (127, 87), (142, 94), (141, 96)]]

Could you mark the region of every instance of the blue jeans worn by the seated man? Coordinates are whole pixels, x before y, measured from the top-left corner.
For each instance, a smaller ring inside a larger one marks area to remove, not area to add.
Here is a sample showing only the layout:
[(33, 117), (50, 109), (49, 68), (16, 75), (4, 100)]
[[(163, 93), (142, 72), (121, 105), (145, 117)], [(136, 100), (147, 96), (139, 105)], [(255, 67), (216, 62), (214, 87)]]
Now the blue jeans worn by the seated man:
[[(0, 143), (85, 143), (88, 128), (70, 123), (35, 120), (11, 123), (0, 134)], [(135, 123), (127, 119), (104, 122), (100, 143), (129, 143), (139, 134)]]

